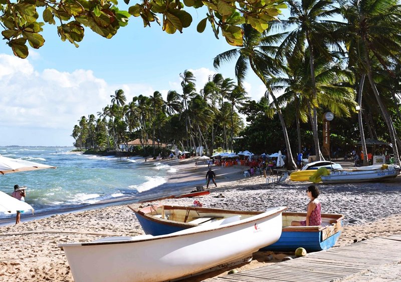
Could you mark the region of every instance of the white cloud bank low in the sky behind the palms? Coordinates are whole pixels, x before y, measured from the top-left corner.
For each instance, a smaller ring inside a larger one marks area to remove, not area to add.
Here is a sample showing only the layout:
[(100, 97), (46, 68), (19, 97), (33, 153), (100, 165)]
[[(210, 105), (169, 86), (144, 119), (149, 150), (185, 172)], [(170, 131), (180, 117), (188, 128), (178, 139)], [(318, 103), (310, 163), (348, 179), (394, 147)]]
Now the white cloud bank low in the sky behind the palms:
[[(40, 56), (36, 56), (40, 59)], [(33, 60), (36, 58), (32, 58)], [(72, 145), (70, 136), (82, 116), (97, 114), (111, 103), (110, 95), (123, 89), (127, 103), (139, 94), (152, 95), (158, 90), (163, 98), (169, 90), (181, 93), (181, 79), (160, 81), (164, 85), (154, 89), (149, 84), (109, 85), (94, 76), (93, 71), (78, 69), (61, 72), (56, 69), (35, 70), (30, 59), (19, 59), (0, 54), (0, 146), (5, 145)], [(208, 68), (189, 69), (196, 78), (196, 90), (205, 86), (211, 75)], [(170, 76), (171, 78), (171, 76)], [(168, 85), (168, 89), (165, 86)], [(246, 83), (250, 96), (259, 100), (263, 85)], [(160, 90), (161, 89), (161, 90)]]

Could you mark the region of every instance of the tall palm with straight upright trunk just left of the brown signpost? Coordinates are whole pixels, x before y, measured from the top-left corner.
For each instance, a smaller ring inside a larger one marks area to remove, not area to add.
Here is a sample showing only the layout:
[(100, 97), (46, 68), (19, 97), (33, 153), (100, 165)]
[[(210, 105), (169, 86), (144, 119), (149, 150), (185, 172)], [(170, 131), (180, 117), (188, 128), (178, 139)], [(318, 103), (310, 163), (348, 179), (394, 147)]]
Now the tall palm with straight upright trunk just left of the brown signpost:
[[(339, 12), (334, 6), (332, 0), (288, 0), (290, 8), (290, 17), (288, 20), (272, 23), (283, 29), (290, 29), (285, 40), (280, 45), (278, 58), (282, 58), (285, 54), (295, 53), (303, 54), (307, 48), (309, 50), (309, 66), (311, 91), (313, 99), (317, 99), (318, 92), (316, 90), (314, 60), (316, 53), (320, 56), (331, 58), (325, 37), (328, 37), (334, 22), (328, 21), (328, 18), (335, 17)], [(292, 29), (292, 30), (291, 30)], [(307, 46), (306, 46), (307, 44)], [(315, 144), (315, 153), (317, 160), (323, 158), (320, 152), (319, 136), (317, 128), (317, 108), (312, 107), (312, 132)]]

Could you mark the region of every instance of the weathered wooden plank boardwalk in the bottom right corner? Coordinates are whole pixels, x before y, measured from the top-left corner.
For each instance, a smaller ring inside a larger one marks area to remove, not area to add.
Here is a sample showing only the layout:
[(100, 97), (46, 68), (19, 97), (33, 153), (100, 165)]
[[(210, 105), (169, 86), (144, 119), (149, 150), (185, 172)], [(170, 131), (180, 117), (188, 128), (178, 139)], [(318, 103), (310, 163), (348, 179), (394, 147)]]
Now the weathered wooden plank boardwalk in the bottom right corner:
[(401, 235), (392, 235), (208, 279), (208, 282), (339, 281), (399, 261), (401, 261)]

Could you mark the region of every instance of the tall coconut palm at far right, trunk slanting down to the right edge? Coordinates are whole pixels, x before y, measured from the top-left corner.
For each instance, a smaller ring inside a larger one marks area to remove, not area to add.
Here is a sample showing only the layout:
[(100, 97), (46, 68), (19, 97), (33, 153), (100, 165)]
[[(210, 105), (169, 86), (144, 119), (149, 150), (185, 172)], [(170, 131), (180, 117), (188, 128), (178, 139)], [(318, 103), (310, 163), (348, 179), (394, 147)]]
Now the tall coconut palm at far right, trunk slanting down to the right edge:
[(395, 161), (400, 164), (396, 142), (397, 134), (377, 90), (372, 68), (372, 60), (377, 60), (384, 69), (389, 61), (401, 63), (399, 60), (401, 50), (399, 2), (396, 0), (349, 0), (339, 3), (347, 24), (337, 30), (337, 36), (344, 40), (348, 49), (353, 48), (357, 54), (356, 60), (368, 78), (387, 125)]

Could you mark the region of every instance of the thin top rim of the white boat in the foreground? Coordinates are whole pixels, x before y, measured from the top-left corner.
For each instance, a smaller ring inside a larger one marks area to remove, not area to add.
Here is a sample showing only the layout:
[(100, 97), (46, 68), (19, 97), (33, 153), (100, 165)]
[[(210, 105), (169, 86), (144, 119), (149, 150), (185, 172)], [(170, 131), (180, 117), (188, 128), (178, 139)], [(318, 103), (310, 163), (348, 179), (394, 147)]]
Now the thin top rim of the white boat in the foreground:
[[(103, 242), (82, 242), (82, 243), (65, 243), (65, 244), (59, 244), (58, 246), (60, 248), (63, 247), (73, 247), (73, 246), (94, 246), (94, 245), (112, 245), (112, 244), (128, 244), (128, 243), (139, 243), (139, 242), (145, 242), (145, 241), (154, 241), (154, 240), (161, 240), (161, 239), (166, 239), (166, 238), (175, 238), (175, 237), (183, 237), (183, 236), (188, 236), (188, 235), (193, 235), (193, 234), (200, 234), (200, 233), (206, 233), (206, 232), (213, 232), (216, 230), (223, 230), (226, 228), (232, 228), (232, 227), (237, 227), (237, 226), (241, 226), (244, 224), (249, 224), (253, 221), (257, 221), (257, 220), (261, 220), (261, 219), (265, 219), (267, 217), (275, 217), (277, 216), (277, 214), (282, 214), (283, 210), (286, 210), (287, 207), (286, 206), (281, 206), (278, 207), (279, 210), (274, 211), (272, 213), (268, 213), (264, 216), (255, 218), (255, 219), (249, 219), (249, 218), (245, 218), (240, 221), (235, 221), (232, 223), (228, 223), (225, 225), (218, 225), (215, 228), (209, 228), (206, 230), (199, 230), (199, 231), (195, 231), (195, 232), (191, 232), (191, 233), (183, 233), (183, 234), (167, 234), (167, 235), (158, 235), (158, 236), (153, 236), (152, 238), (145, 238), (145, 239), (139, 239), (139, 240), (119, 240), (119, 241), (103, 241)], [(242, 222), (241, 222), (242, 221)], [(135, 237), (133, 237), (135, 238)]]

